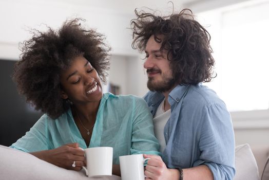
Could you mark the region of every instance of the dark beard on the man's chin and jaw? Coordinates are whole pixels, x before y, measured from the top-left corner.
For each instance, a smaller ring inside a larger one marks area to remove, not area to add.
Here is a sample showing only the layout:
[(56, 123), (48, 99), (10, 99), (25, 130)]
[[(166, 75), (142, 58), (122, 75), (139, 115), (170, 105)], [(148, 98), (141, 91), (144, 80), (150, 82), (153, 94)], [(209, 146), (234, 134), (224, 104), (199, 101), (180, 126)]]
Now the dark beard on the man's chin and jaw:
[(162, 76), (162, 81), (154, 82), (154, 78), (149, 77), (147, 81), (147, 87), (150, 91), (167, 92), (176, 84), (175, 79)]

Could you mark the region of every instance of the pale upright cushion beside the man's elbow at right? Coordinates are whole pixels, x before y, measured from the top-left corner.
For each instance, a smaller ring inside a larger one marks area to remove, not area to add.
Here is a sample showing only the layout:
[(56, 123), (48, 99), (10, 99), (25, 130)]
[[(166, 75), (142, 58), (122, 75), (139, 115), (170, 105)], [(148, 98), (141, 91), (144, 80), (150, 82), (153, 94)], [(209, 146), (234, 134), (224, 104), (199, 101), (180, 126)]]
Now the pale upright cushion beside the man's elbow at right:
[(235, 166), (234, 180), (259, 180), (258, 166), (248, 144), (236, 147)]

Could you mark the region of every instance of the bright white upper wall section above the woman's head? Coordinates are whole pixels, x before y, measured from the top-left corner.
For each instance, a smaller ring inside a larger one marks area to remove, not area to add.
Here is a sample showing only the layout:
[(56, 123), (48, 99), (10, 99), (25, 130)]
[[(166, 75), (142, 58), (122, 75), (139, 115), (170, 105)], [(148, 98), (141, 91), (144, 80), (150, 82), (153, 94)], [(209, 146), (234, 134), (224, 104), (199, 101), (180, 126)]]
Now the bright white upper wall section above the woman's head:
[[(127, 28), (132, 14), (59, 1), (0, 1), (0, 58), (17, 59), (18, 42), (31, 37), (29, 28), (57, 28), (69, 17), (82, 17), (86, 25), (107, 36), (113, 54), (134, 55), (131, 32)], [(43, 24), (43, 25), (41, 25)], [(41, 26), (40, 26), (41, 25)]]

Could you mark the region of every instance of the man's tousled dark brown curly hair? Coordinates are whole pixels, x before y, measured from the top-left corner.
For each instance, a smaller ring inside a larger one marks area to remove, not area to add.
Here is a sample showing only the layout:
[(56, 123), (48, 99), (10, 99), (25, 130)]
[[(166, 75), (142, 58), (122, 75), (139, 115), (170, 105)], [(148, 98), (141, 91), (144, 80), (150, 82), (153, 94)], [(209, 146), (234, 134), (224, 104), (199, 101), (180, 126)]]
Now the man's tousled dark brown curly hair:
[(173, 78), (179, 84), (210, 82), (215, 78), (210, 34), (195, 19), (189, 9), (169, 16), (156, 16), (137, 9), (137, 19), (131, 20), (132, 48), (145, 50), (153, 35), (161, 44), (161, 53), (167, 50)]

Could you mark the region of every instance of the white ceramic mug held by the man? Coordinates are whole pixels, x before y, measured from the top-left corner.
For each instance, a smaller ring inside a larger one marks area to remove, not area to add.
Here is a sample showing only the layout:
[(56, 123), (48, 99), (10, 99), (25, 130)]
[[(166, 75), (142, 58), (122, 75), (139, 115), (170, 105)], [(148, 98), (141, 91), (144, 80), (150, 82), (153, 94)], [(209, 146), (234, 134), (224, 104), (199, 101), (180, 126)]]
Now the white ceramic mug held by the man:
[(144, 180), (144, 163), (148, 159), (143, 154), (120, 156), (122, 180)]

